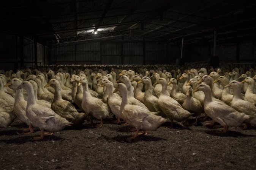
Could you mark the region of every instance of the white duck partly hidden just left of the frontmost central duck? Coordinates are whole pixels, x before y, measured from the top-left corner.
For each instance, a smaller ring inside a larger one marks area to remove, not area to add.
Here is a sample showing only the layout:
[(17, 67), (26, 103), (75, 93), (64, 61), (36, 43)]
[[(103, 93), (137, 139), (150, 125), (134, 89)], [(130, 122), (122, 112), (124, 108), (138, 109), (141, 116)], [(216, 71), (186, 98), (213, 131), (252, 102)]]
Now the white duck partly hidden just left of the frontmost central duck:
[(111, 109), (111, 112), (117, 117), (117, 121), (114, 121), (114, 123), (120, 124), (120, 118), (122, 119), (120, 111), (122, 97), (117, 93), (113, 93), (114, 85), (110, 80), (103, 81), (103, 86), (106, 86), (106, 93), (108, 96), (107, 103)]

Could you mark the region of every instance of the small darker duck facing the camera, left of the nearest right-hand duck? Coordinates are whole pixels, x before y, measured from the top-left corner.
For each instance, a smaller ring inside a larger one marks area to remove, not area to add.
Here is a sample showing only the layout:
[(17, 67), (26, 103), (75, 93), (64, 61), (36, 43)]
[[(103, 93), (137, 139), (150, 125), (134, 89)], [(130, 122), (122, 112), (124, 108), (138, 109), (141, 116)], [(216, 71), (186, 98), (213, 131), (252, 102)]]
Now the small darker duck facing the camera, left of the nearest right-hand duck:
[(193, 125), (197, 125), (198, 118), (204, 110), (201, 102), (192, 96), (192, 92), (192, 87), (186, 86), (186, 99), (183, 102), (182, 107), (190, 113), (194, 113), (194, 116), (196, 116), (196, 122), (194, 122)]

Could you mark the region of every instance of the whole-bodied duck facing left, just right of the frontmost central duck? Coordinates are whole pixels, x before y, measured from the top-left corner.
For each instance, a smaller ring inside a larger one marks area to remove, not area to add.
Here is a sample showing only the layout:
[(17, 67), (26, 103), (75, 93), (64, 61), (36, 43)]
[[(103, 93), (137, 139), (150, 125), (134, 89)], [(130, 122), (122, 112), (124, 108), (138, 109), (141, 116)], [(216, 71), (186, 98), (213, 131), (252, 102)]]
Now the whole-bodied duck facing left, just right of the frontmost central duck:
[(163, 111), (163, 113), (171, 120), (171, 127), (173, 120), (177, 122), (186, 122), (188, 117), (190, 117), (192, 114), (189, 111), (183, 109), (179, 102), (170, 97), (167, 91), (166, 79), (160, 78), (156, 83), (162, 85), (162, 92), (158, 98), (158, 106)]

